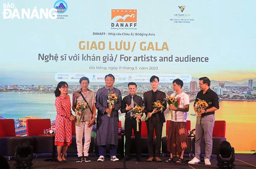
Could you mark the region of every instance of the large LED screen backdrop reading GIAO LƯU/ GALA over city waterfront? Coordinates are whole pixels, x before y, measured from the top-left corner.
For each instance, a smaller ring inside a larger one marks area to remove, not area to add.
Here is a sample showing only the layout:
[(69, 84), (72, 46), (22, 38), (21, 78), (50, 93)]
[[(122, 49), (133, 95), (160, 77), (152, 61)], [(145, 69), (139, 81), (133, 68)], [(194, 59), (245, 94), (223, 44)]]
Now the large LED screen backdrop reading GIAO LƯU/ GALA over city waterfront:
[[(1, 5), (0, 118), (15, 119), (17, 135), (26, 134), (26, 118), (50, 118), (54, 124), (59, 81), (70, 85), (72, 97), (81, 77), (90, 79), (96, 93), (109, 73), (123, 97), (131, 81), (142, 96), (152, 75), (159, 76), (159, 90), (167, 94), (173, 92), (171, 82), (182, 79), (195, 128), (198, 78), (207, 76), (220, 98), (216, 120), (227, 122), (227, 141), (236, 151), (256, 149), (256, 139), (248, 136), (256, 133), (256, 2), (12, 0)], [(124, 122), (123, 114), (119, 119)]]

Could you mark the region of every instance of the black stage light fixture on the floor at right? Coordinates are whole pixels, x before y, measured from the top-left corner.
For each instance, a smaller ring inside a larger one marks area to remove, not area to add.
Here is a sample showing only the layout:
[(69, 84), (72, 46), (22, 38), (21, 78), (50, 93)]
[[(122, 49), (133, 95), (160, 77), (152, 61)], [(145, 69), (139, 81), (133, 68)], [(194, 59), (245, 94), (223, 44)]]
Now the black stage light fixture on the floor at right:
[(235, 168), (235, 149), (231, 147), (228, 141), (222, 141), (220, 147), (217, 148), (217, 160), (220, 169)]

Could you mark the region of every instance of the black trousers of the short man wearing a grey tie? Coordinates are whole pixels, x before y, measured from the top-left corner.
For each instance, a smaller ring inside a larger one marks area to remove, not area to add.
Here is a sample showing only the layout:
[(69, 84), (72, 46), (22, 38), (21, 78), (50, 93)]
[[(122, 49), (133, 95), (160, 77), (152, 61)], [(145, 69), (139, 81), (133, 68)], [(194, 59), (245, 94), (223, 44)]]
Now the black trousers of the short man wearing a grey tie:
[(137, 121), (134, 117), (125, 118), (125, 155), (130, 155), (131, 134), (135, 136), (137, 155), (142, 152), (141, 148), (141, 121), (139, 122), (139, 131), (137, 131)]

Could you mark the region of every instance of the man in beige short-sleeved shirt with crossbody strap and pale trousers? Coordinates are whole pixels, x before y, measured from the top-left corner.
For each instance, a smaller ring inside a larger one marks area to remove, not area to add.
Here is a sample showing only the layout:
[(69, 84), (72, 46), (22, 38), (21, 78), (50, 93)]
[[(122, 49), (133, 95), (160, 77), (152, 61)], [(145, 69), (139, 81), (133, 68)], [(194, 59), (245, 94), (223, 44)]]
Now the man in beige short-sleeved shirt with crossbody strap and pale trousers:
[[(79, 83), (81, 89), (73, 93), (72, 105), (73, 111), (76, 112), (76, 147), (78, 152), (76, 162), (91, 162), (88, 158), (88, 151), (91, 143), (92, 125), (96, 120), (96, 98), (95, 93), (88, 89), (90, 83), (88, 78), (80, 78)], [(82, 142), (83, 133), (85, 134), (84, 143)]]

